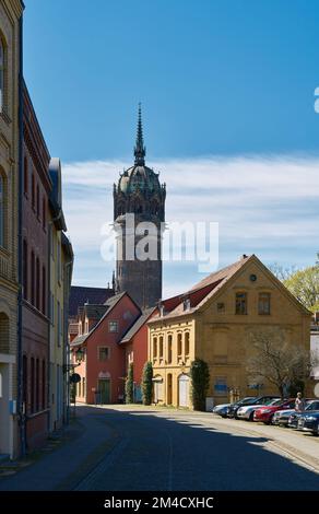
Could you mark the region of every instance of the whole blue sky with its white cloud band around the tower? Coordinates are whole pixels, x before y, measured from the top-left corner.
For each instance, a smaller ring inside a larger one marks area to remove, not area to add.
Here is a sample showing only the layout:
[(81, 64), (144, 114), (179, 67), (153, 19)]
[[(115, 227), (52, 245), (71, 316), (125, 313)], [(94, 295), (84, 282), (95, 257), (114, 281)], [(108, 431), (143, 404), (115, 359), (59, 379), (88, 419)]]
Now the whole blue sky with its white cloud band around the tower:
[[(25, 4), (24, 74), (49, 150), (64, 164), (76, 283), (99, 285), (110, 272), (99, 225), (111, 218), (111, 183), (132, 161), (139, 101), (168, 220), (218, 221), (221, 265), (251, 252), (267, 264), (314, 261), (318, 1)], [(186, 284), (184, 266), (166, 265), (167, 294), (200, 278), (187, 265)]]

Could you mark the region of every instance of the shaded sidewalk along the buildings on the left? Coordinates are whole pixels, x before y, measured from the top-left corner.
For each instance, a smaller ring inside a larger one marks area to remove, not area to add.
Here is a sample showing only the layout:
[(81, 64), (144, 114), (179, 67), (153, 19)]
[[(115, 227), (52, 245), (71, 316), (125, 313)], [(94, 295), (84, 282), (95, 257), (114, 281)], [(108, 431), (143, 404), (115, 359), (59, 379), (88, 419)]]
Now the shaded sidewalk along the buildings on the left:
[[(105, 410), (81, 407), (60, 443), (49, 441), (45, 448), (22, 462), (17, 472), (9, 475), (9, 476), (0, 475), (0, 491), (74, 489), (117, 442), (117, 433), (106, 421)], [(29, 460), (32, 464), (27, 465)], [(14, 470), (15, 465), (11, 466)]]

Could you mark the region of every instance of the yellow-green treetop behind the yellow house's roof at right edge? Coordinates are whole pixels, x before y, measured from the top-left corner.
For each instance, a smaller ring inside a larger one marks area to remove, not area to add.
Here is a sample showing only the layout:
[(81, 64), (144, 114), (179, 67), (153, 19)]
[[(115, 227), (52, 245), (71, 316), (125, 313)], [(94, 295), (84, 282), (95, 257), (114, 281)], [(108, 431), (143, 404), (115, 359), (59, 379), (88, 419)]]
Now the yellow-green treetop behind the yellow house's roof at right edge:
[(312, 313), (319, 311), (319, 264), (296, 271), (285, 287)]

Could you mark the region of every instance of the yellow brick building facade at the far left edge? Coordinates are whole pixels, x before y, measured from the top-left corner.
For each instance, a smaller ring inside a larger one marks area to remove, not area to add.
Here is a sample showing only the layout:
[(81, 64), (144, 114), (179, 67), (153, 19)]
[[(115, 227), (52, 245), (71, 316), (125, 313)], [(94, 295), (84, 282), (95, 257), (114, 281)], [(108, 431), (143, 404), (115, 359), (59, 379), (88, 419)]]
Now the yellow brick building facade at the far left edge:
[(16, 456), (20, 184), (20, 0), (0, 1), (0, 455)]

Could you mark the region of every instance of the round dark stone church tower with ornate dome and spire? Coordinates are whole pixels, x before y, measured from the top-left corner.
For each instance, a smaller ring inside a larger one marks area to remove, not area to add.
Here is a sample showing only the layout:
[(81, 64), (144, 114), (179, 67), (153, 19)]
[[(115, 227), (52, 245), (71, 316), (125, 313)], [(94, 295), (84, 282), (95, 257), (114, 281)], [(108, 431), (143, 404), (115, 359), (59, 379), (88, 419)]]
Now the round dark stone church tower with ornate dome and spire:
[[(117, 230), (117, 292), (127, 291), (140, 307), (150, 307), (162, 299), (162, 227), (165, 221), (166, 186), (158, 175), (145, 165), (141, 105), (139, 106), (134, 165), (120, 174), (114, 185), (114, 221)], [(147, 230), (152, 223), (156, 231)], [(137, 233), (138, 229), (138, 233)], [(155, 248), (156, 258), (140, 258), (138, 247)], [(143, 240), (143, 241), (142, 241)], [(139, 245), (140, 242), (140, 245)]]

